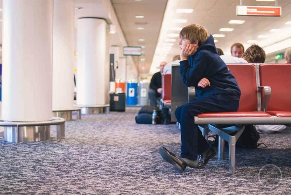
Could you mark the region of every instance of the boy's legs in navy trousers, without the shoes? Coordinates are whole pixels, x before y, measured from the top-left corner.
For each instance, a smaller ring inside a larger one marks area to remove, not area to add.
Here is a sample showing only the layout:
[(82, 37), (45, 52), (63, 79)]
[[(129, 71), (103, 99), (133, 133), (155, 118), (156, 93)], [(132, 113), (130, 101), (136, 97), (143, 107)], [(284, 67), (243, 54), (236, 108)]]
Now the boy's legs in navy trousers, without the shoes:
[(209, 144), (198, 126), (194, 124), (194, 116), (205, 112), (236, 111), (238, 106), (238, 101), (231, 100), (225, 95), (213, 95), (194, 100), (176, 109), (175, 115), (181, 125), (181, 157), (196, 160), (198, 147), (199, 153), (209, 149)]

